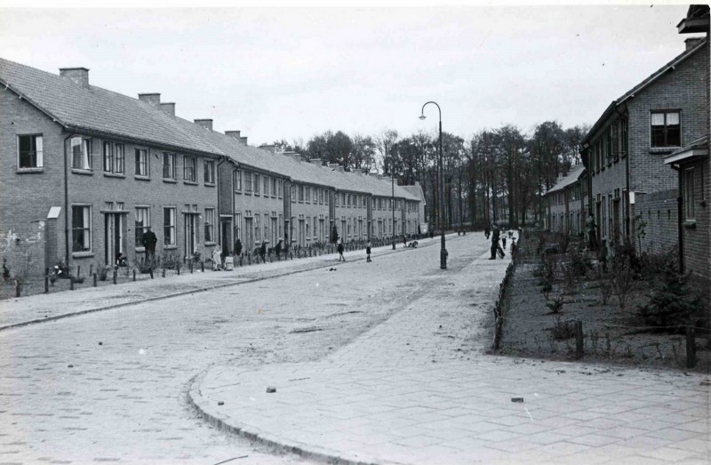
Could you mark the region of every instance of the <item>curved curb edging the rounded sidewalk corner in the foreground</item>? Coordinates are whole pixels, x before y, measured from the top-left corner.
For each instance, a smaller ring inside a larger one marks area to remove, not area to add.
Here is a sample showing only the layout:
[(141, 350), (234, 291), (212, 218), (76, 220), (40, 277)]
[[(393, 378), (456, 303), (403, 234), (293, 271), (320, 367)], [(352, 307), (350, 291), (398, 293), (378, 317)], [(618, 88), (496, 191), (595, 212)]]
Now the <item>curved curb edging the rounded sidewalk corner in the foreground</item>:
[(207, 412), (202, 406), (199, 405), (198, 402), (196, 402), (196, 397), (201, 397), (200, 386), (204, 381), (204, 377), (211, 369), (212, 367), (206, 369), (203, 373), (197, 374), (196, 376), (191, 378), (190, 381), (188, 381), (187, 397), (188, 405), (190, 405), (190, 407), (195, 410), (197, 415), (203, 420), (210, 423), (215, 428), (220, 429), (221, 431), (224, 431), (228, 434), (244, 437), (245, 439), (256, 442), (260, 445), (266, 445), (268, 447), (276, 449), (277, 451), (284, 453), (292, 453), (300, 456), (301, 458), (311, 461), (320, 461), (324, 463), (330, 463), (332, 465), (379, 465), (378, 462), (374, 461), (356, 461), (340, 457), (339, 455), (336, 455), (331, 451), (318, 452), (314, 450), (308, 450), (307, 447), (309, 446), (301, 443), (287, 444), (284, 442), (280, 442), (276, 438), (269, 437), (269, 434), (266, 431), (262, 431), (258, 428), (253, 428), (253, 431), (248, 431), (244, 429), (244, 427), (231, 425), (226, 420), (222, 420), (217, 416), (213, 415), (212, 413)]

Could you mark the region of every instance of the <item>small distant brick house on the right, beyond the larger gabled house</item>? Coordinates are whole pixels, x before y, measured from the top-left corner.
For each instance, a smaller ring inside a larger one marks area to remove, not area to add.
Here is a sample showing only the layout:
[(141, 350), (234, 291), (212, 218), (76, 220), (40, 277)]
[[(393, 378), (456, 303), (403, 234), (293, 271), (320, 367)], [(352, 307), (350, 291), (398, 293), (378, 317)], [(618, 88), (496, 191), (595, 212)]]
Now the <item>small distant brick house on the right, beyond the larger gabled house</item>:
[(579, 234), (587, 219), (587, 179), (585, 166), (574, 165), (560, 176), (544, 195), (547, 205), (546, 228), (561, 234)]

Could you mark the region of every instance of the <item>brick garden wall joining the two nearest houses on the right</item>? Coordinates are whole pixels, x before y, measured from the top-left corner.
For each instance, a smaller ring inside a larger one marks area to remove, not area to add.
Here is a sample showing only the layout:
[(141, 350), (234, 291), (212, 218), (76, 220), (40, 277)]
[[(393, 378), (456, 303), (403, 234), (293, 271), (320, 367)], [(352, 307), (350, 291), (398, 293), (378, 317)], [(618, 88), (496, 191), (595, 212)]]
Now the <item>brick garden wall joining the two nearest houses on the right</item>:
[[(677, 192), (673, 188), (637, 196), (635, 214), (641, 215), (640, 220), (646, 223), (642, 251), (666, 253), (678, 244)], [(635, 223), (639, 224), (639, 221)], [(635, 237), (635, 243), (636, 240)]]

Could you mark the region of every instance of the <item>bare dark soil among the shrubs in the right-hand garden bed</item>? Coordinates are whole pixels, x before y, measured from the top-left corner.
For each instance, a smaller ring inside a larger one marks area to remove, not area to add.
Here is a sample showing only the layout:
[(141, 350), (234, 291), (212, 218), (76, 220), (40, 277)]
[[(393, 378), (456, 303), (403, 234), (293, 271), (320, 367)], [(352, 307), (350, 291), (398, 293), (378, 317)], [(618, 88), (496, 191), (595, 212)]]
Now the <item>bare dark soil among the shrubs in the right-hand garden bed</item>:
[[(683, 334), (650, 333), (635, 317), (637, 305), (647, 299), (648, 283), (635, 283), (635, 289), (626, 312), (620, 312), (617, 301), (611, 296), (603, 303), (600, 286), (603, 284), (593, 274), (582, 279), (575, 293), (563, 296), (563, 309), (555, 315), (546, 306), (547, 300), (537, 276), (539, 260), (531, 252), (531, 244), (522, 249), (516, 266), (507, 306), (501, 353), (521, 357), (538, 357), (572, 360), (575, 356), (575, 339), (553, 337), (553, 330), (574, 321), (583, 324), (585, 356), (591, 363), (613, 363), (643, 367), (675, 368), (686, 370), (686, 338)], [(554, 294), (562, 291), (563, 284), (554, 285)], [(563, 331), (564, 332), (564, 331)], [(711, 371), (711, 350), (707, 335), (699, 334), (696, 340), (698, 364), (693, 371)]]

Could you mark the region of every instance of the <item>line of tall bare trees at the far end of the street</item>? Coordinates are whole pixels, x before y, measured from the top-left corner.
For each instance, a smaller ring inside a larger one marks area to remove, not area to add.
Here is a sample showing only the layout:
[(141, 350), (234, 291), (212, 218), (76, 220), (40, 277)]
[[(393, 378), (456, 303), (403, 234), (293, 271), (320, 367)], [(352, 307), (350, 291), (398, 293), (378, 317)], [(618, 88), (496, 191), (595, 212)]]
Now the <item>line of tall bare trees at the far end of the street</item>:
[[(542, 220), (543, 196), (559, 175), (580, 164), (580, 141), (589, 126), (571, 128), (555, 121), (524, 133), (513, 124), (475, 132), (465, 140), (442, 133), (444, 224), (483, 226), (505, 222), (512, 228)], [(281, 151), (395, 176), (400, 185), (419, 181), (427, 200), (427, 220), (439, 218), (439, 134), (401, 137), (395, 130), (376, 136), (326, 131), (308, 142), (277, 140)]]

